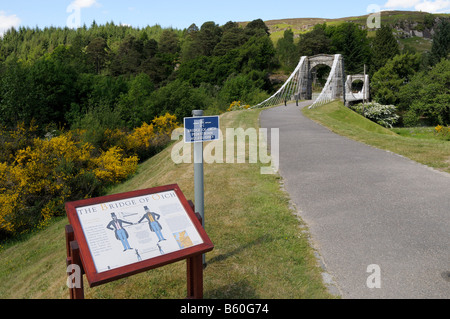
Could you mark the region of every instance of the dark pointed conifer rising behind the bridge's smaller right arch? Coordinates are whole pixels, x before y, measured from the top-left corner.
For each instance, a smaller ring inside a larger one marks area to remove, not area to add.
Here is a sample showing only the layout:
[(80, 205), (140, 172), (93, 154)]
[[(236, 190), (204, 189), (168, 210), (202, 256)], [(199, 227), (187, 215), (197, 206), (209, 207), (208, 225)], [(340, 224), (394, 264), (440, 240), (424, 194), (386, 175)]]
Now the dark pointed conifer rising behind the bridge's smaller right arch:
[(375, 38), (372, 41), (373, 71), (379, 70), (388, 60), (398, 54), (400, 54), (400, 49), (392, 28), (388, 25), (383, 25), (376, 31)]

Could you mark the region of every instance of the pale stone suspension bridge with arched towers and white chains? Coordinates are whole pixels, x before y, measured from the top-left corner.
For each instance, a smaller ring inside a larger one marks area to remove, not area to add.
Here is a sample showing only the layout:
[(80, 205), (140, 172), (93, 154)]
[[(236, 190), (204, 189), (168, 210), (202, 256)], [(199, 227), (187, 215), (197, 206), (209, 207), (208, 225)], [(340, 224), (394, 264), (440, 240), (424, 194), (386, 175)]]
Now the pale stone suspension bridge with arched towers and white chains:
[[(331, 68), (322, 92), (314, 97), (313, 70), (319, 65)], [(352, 84), (362, 81), (361, 91), (353, 92)], [(311, 57), (303, 56), (294, 72), (283, 86), (270, 98), (255, 105), (254, 108), (274, 106), (292, 100), (314, 100), (310, 108), (314, 108), (333, 100), (340, 99), (344, 103), (364, 101), (370, 97), (369, 76), (366, 74), (345, 75), (344, 59), (341, 54), (320, 54)]]

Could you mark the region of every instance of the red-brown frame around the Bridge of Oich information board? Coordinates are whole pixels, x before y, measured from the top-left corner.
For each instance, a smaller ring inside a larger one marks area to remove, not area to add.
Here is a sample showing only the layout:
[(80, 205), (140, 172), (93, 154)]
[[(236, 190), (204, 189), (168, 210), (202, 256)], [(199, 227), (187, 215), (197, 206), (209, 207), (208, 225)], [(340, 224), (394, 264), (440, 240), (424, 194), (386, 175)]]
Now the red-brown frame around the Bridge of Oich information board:
[[(192, 224), (195, 226), (198, 234), (200, 235), (203, 243), (185, 248), (179, 251), (171, 252), (162, 256), (158, 256), (152, 259), (147, 259), (144, 261), (136, 262), (130, 265), (126, 265), (123, 267), (115, 268), (105, 272), (97, 272), (97, 269), (94, 264), (94, 258), (91, 255), (91, 251), (89, 249), (88, 242), (86, 240), (78, 213), (77, 208), (87, 207), (98, 205), (102, 203), (126, 200), (129, 198), (135, 198), (140, 196), (147, 196), (156, 193), (163, 193), (167, 191), (174, 191), (180, 200), (187, 216), (190, 218)], [(191, 257), (201, 255), (207, 252), (210, 252), (214, 249), (214, 245), (211, 239), (208, 237), (206, 231), (203, 229), (200, 221), (198, 220), (195, 212), (192, 207), (189, 205), (186, 197), (183, 192), (180, 190), (177, 184), (160, 186), (150, 189), (137, 190), (128, 193), (114, 194), (109, 196), (91, 198), (86, 200), (80, 200), (76, 202), (68, 202), (66, 203), (66, 213), (69, 218), (69, 222), (73, 227), (75, 240), (78, 242), (80, 247), (80, 256), (82, 261), (82, 266), (84, 268), (84, 272), (86, 273), (89, 286), (96, 287), (102, 284), (106, 284), (108, 282), (112, 282), (121, 278), (129, 277), (132, 275), (136, 275), (138, 273), (142, 273), (151, 269), (159, 268), (171, 263), (175, 263), (184, 259), (189, 259)]]

